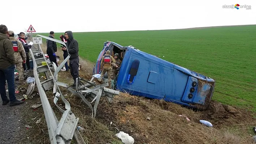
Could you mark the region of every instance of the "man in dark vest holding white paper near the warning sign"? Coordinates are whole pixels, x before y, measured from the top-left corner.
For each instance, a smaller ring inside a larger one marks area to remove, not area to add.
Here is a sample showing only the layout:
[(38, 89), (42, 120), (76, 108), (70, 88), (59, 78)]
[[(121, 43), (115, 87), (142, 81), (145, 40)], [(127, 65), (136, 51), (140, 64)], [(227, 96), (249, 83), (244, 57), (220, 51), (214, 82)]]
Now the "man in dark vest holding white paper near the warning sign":
[[(26, 43), (25, 33), (24, 32), (20, 32), (20, 36), (19, 36), (18, 40), (21, 41), (21, 43), (22, 43), (22, 45), (23, 45), (23, 47), (25, 49), (25, 52), (26, 52), (26, 63), (22, 64), (23, 69), (24, 69), (24, 73), (29, 73), (29, 71), (33, 71), (30, 68), (30, 62), (29, 62), (29, 49), (31, 48), (32, 45), (28, 45)], [(26, 69), (26, 65), (27, 65), (27, 69)]]

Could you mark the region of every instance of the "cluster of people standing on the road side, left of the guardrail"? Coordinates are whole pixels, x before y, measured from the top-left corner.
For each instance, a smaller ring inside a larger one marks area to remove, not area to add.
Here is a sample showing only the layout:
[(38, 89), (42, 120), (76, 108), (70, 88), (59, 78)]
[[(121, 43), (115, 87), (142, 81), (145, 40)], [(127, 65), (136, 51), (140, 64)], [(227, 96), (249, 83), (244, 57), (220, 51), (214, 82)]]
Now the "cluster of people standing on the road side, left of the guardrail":
[[(0, 95), (3, 105), (10, 102), (10, 106), (23, 104), (16, 99), (14, 86), (14, 70), (18, 70), (19, 82), (24, 82), (24, 73), (32, 71), (29, 63), (29, 49), (25, 40), (25, 33), (20, 32), (18, 39), (14, 32), (8, 31), (7, 26), (0, 25)], [(26, 68), (27, 65), (27, 68)], [(9, 99), (6, 95), (5, 84), (8, 84)]]

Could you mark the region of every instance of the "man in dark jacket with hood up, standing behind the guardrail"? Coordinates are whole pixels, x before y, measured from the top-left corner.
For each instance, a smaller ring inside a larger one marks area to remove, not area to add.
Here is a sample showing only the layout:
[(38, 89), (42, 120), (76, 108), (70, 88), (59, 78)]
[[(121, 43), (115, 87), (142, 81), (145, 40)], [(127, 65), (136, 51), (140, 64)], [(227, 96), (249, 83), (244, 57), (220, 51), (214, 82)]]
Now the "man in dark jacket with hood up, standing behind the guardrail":
[[(72, 87), (76, 86), (76, 78), (79, 78), (79, 55), (78, 55), (78, 42), (73, 38), (72, 31), (66, 31), (65, 37), (67, 39), (67, 48), (61, 48), (63, 51), (68, 51), (70, 54), (69, 66), (70, 73), (74, 79), (74, 84)], [(79, 83), (78, 83), (79, 84)]]

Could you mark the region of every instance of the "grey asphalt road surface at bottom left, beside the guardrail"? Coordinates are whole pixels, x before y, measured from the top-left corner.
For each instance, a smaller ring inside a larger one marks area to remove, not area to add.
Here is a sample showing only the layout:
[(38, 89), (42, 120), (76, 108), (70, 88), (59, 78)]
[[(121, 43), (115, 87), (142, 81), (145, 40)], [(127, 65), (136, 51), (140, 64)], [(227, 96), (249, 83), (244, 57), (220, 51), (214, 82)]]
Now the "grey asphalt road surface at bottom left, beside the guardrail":
[[(34, 92), (36, 93), (35, 90)], [(19, 95), (16, 95), (16, 98), (23, 98), (25, 93), (26, 91), (20, 92)], [(8, 92), (6, 94), (9, 98)], [(9, 106), (10, 103), (2, 105), (3, 102), (0, 99), (0, 144), (47, 144), (44, 142), (48, 139), (45, 123), (41, 122), (38, 124), (39, 126), (35, 123), (39, 118), (44, 118), (43, 109), (42, 107), (36, 110), (30, 108), (32, 104), (37, 102), (40, 102), (39, 96), (27, 99), (24, 104), (16, 106)], [(35, 117), (37, 119), (32, 120)], [(27, 128), (27, 125), (31, 127)], [(46, 133), (41, 132), (39, 127), (40, 129), (44, 128)]]

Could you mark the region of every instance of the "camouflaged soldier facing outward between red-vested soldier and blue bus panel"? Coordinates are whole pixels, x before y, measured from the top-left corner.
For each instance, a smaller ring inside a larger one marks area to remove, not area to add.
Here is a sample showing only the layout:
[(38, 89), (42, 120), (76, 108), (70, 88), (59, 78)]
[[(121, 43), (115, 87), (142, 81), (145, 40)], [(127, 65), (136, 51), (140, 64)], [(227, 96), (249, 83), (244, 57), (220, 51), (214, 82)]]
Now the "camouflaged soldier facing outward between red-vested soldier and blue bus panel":
[(111, 88), (115, 86), (116, 75), (118, 74), (119, 67), (121, 66), (121, 60), (118, 58), (119, 54), (115, 53), (114, 58), (116, 62), (112, 62), (112, 73), (111, 73)]

